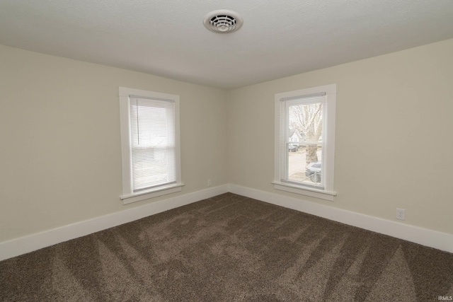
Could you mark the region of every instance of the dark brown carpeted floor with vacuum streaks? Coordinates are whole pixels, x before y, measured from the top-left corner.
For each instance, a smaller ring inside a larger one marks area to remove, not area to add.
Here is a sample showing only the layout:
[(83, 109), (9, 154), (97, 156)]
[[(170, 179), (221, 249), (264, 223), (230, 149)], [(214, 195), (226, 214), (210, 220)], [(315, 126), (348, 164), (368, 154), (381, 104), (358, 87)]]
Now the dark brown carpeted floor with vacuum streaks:
[(0, 262), (1, 301), (439, 301), (453, 254), (236, 194)]

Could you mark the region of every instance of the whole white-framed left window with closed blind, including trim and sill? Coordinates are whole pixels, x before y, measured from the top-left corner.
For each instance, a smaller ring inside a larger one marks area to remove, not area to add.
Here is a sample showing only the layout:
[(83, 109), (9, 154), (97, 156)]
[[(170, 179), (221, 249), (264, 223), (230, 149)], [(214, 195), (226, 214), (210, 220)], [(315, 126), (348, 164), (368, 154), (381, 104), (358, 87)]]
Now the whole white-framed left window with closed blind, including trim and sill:
[(120, 87), (124, 204), (181, 190), (179, 96)]

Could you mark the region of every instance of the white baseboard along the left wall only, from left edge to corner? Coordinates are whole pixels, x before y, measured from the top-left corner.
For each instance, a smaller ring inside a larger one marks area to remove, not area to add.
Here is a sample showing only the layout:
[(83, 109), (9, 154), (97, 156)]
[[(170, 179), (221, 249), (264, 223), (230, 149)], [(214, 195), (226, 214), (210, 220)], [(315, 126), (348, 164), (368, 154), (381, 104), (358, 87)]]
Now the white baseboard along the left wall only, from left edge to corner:
[(29, 236), (8, 240), (0, 243), (0, 261), (16, 257), (18, 255), (23, 255), (27, 252), (33, 252), (34, 250), (39, 250), (40, 248), (45, 248), (50, 245), (62, 243), (67, 240), (86, 236), (91, 233), (103, 231), (107, 228), (112, 228), (113, 226), (119, 226), (123, 223), (142, 219), (169, 209), (182, 207), (185, 204), (191, 204), (202, 199), (224, 194), (228, 192), (228, 188), (229, 185), (211, 187), (206, 190), (171, 197), (160, 200), (159, 202), (144, 204), (140, 207), (126, 209), (124, 211), (72, 223), (59, 228), (53, 228), (49, 231), (43, 231)]

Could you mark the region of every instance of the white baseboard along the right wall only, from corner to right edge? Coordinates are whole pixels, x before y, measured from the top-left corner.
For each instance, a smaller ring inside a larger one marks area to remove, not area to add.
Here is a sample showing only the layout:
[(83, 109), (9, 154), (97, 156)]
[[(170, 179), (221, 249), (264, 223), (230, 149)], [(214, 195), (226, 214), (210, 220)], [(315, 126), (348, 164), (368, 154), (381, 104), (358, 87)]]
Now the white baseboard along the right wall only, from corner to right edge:
[(280, 194), (274, 194), (271, 192), (255, 190), (248, 187), (241, 187), (239, 185), (230, 184), (229, 192), (253, 199), (258, 199), (270, 204), (277, 204), (281, 207), (295, 209), (307, 214), (313, 214), (333, 221), (338, 221), (350, 226), (365, 228), (369, 231), (374, 231), (376, 233), (382, 233), (384, 235), (392, 236), (395, 238), (408, 240), (420, 245), (437, 248), (438, 250), (453, 252), (452, 234), (432, 231), (427, 228), (420, 228), (418, 226), (411, 226), (406, 223), (380, 219), (374, 216), (368, 216), (353, 211), (328, 207), (323, 204), (307, 202), (305, 200), (287, 197)]

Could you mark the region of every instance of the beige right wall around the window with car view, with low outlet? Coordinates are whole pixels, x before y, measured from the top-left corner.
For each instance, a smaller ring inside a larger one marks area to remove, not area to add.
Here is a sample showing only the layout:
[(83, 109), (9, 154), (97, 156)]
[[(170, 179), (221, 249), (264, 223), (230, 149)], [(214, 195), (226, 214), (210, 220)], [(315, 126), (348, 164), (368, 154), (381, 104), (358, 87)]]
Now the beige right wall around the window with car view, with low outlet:
[[(229, 91), (229, 182), (453, 233), (453, 40)], [(301, 54), (303, 55), (303, 54)], [(334, 202), (273, 189), (274, 95), (337, 83)]]

